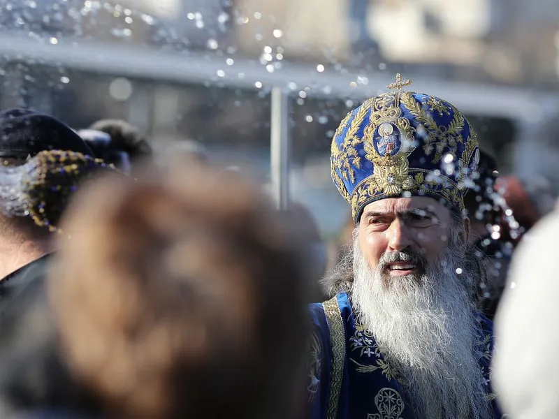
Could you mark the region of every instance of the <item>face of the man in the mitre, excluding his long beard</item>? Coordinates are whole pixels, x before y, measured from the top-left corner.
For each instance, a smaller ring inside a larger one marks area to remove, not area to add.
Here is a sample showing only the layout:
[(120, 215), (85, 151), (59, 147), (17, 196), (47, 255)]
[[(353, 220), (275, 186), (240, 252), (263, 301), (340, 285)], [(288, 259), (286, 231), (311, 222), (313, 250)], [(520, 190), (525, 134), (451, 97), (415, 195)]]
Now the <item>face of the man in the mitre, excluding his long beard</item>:
[[(358, 226), (359, 247), (365, 260), (370, 269), (381, 269), (385, 278), (423, 274), (425, 264), (436, 263), (450, 234), (450, 211), (425, 196), (386, 198), (370, 203), (363, 210)], [(411, 257), (382, 261), (385, 253), (395, 251)]]

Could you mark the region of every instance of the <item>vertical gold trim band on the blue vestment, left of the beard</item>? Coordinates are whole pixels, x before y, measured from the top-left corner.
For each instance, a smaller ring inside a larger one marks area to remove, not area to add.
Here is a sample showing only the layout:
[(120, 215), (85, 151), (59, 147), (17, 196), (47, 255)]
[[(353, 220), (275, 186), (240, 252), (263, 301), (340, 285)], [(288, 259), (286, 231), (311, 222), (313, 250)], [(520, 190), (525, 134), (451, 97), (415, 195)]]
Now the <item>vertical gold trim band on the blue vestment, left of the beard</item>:
[(330, 372), (330, 390), (328, 391), (328, 406), (326, 409), (327, 419), (336, 419), (337, 405), (340, 401), (340, 390), (342, 389), (342, 378), (344, 374), (345, 360), (345, 332), (340, 306), (337, 298), (322, 303), (324, 314), (328, 321), (328, 331), (332, 345), (332, 362)]

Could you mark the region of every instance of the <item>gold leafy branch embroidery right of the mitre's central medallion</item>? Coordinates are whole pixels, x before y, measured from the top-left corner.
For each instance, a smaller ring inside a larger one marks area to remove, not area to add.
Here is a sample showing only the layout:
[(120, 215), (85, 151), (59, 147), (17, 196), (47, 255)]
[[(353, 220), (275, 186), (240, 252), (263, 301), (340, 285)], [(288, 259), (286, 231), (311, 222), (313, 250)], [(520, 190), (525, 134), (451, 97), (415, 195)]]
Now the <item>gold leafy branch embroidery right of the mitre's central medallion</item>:
[[(405, 91), (400, 95), (400, 101), (423, 124), (426, 138), (423, 140), (423, 152), (430, 155), (435, 152), (431, 163), (439, 163), (442, 159), (442, 152), (448, 148), (449, 153), (456, 155), (459, 142), (463, 142), (462, 130), (465, 124), (462, 112), (453, 108), (454, 117), (449, 126), (439, 126), (435, 119), (415, 100), (411, 92)], [(419, 131), (419, 130), (418, 130)], [(458, 158), (460, 156), (457, 156)]]

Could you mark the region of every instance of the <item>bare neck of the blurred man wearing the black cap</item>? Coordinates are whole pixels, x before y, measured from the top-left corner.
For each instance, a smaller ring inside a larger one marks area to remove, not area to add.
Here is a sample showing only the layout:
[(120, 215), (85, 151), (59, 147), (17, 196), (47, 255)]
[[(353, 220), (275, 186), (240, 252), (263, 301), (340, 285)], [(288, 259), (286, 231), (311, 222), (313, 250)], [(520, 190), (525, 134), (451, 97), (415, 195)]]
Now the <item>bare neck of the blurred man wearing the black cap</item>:
[(51, 249), (46, 241), (10, 242), (0, 239), (0, 279), (42, 258)]

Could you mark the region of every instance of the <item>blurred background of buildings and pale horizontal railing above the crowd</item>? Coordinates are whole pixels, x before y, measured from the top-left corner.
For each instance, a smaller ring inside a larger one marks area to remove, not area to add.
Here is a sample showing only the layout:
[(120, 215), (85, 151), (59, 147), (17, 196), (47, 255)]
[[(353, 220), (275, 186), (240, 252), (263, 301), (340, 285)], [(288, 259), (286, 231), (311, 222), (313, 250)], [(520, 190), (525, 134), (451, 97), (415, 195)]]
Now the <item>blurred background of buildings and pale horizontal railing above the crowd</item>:
[(477, 127), (502, 172), (555, 171), (556, 0), (0, 1), (0, 105), (75, 128), (104, 117), (154, 147), (198, 140), (270, 172), (270, 89), (289, 92), (291, 196), (325, 235), (349, 214), (328, 154), (340, 119), (396, 72)]

